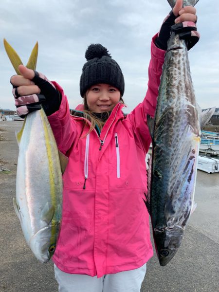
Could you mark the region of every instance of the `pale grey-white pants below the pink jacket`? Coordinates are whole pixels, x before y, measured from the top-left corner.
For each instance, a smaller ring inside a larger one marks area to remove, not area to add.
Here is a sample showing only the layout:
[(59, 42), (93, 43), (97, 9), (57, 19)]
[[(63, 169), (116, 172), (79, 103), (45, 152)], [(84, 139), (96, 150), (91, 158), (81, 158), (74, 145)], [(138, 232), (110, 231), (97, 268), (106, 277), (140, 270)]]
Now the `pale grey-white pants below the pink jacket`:
[(67, 274), (55, 266), (59, 292), (140, 292), (146, 274), (146, 264), (138, 269), (107, 274), (101, 278)]

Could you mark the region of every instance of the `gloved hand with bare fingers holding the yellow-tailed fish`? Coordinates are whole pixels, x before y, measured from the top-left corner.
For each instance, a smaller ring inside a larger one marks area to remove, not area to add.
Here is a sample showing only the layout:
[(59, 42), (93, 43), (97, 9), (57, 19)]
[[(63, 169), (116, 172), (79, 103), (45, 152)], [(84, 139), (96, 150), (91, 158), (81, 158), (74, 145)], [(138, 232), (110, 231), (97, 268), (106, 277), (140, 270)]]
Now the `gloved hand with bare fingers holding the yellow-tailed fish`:
[(21, 75), (11, 77), (18, 115), (23, 118), (42, 107), (47, 116), (58, 110), (61, 95), (46, 76), (23, 65), (18, 69)]

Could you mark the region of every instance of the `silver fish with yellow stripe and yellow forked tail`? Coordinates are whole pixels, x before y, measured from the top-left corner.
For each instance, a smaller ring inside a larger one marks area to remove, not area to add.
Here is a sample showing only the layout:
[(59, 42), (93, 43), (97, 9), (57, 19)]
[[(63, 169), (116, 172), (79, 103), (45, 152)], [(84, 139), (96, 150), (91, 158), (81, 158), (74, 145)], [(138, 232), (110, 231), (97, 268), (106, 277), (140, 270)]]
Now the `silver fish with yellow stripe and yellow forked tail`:
[[(22, 64), (4, 39), (5, 50), (19, 74)], [(36, 44), (27, 67), (36, 70)], [(17, 134), (19, 146), (14, 207), (34, 255), (47, 262), (55, 251), (62, 215), (62, 173), (55, 138), (44, 110), (29, 113)]]

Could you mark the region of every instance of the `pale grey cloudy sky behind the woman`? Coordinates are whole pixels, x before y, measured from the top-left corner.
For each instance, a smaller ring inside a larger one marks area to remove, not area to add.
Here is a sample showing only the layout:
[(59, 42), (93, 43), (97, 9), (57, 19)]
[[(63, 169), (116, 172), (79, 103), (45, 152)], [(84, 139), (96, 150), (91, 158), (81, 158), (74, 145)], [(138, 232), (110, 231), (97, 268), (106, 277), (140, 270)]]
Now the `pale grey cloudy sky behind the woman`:
[[(136, 4), (137, 3), (137, 4)], [(190, 68), (201, 108), (219, 107), (219, 1), (196, 5), (199, 43), (189, 51)], [(170, 6), (166, 0), (2, 0), (0, 3), (0, 107), (15, 109), (10, 76), (15, 71), (3, 37), (24, 64), (39, 44), (37, 71), (55, 80), (71, 108), (82, 99), (79, 79), (85, 51), (101, 43), (125, 77), (127, 112), (145, 97), (151, 37)]]

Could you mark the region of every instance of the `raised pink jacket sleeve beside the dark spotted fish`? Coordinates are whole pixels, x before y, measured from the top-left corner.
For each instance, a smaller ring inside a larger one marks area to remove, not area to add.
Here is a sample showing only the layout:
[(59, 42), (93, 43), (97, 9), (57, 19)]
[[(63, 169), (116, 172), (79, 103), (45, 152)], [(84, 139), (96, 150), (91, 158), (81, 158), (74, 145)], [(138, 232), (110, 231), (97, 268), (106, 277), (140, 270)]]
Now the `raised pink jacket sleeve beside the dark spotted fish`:
[(156, 37), (157, 35), (152, 38), (151, 42), (151, 59), (148, 68), (148, 89), (146, 91), (146, 96), (143, 102), (127, 116), (134, 129), (137, 145), (146, 152), (151, 142), (146, 117), (147, 114), (151, 117), (154, 117), (155, 114), (165, 55), (165, 51), (156, 47), (154, 43)]

